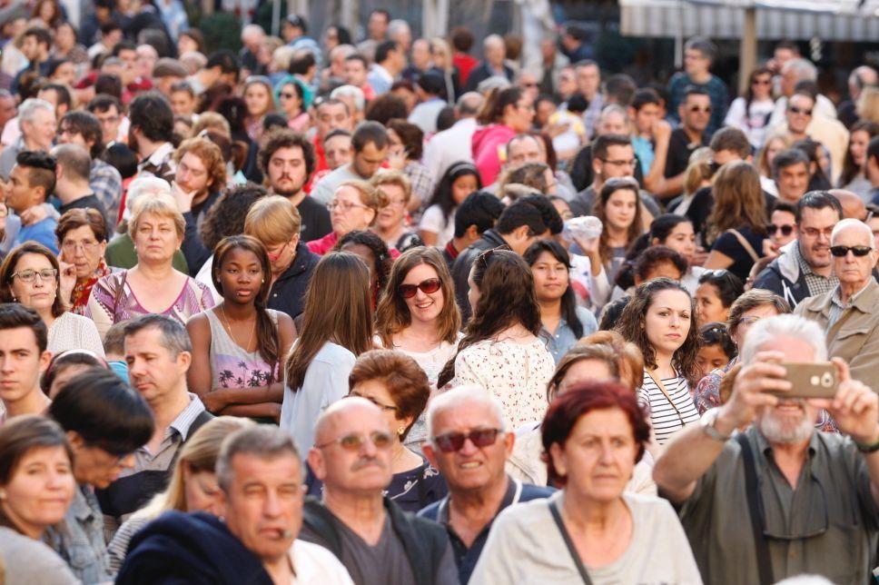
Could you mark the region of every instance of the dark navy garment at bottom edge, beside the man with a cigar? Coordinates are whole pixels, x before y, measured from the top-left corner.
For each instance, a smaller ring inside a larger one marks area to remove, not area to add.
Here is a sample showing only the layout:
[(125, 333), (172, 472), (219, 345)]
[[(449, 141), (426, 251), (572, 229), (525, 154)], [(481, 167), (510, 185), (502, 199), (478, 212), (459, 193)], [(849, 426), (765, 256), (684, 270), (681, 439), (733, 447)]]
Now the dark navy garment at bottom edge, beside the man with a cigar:
[(134, 534), (119, 585), (272, 585), (250, 550), (211, 514), (167, 511)]

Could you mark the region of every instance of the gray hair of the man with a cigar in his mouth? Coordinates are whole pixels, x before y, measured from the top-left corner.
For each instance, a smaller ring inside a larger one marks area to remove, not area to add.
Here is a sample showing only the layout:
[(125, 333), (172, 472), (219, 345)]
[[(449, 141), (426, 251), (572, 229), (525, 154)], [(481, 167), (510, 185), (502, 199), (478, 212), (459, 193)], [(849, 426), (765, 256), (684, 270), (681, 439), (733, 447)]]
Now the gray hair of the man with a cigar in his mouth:
[[(223, 493), (229, 494), (232, 486), (232, 460), (236, 455), (252, 455), (258, 459), (271, 460), (290, 454), (301, 464), (299, 450), (292, 437), (273, 424), (257, 424), (235, 431), (224, 441), (217, 456), (217, 483)], [(301, 479), (304, 479), (304, 475)]]

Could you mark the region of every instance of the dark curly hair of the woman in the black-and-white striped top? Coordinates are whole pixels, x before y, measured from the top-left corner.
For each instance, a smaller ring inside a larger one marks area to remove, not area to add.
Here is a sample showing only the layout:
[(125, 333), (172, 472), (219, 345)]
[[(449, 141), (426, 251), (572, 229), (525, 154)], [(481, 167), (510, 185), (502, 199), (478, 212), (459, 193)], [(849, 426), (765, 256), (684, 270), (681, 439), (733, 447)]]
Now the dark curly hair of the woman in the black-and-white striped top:
[(693, 296), (687, 292), (681, 283), (670, 278), (655, 278), (652, 281), (640, 284), (635, 289), (632, 300), (628, 302), (626, 308), (623, 309), (622, 314), (619, 316), (619, 321), (617, 326), (614, 327), (614, 331), (637, 345), (641, 353), (644, 354), (644, 365), (647, 368), (656, 368), (657, 352), (647, 339), (647, 330), (644, 325), (647, 309), (650, 308), (657, 293), (663, 291), (685, 292), (690, 300), (690, 326), (686, 332), (683, 344), (677, 348), (671, 363), (677, 370), (677, 375), (683, 376), (689, 382), (695, 382), (694, 379), (698, 372), (696, 368), (696, 354), (699, 351), (699, 332), (696, 328), (696, 301), (694, 301)]

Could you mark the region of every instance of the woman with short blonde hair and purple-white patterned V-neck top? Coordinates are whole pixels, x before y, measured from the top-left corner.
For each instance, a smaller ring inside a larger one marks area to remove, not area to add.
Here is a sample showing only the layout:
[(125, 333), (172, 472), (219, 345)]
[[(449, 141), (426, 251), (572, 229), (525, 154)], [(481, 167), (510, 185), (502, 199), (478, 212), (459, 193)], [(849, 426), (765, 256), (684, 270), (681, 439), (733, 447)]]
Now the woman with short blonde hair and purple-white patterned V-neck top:
[(211, 291), (172, 265), (185, 225), (177, 204), (167, 195), (141, 197), (134, 203), (128, 234), (137, 264), (99, 279), (85, 311), (102, 338), (114, 323), (139, 315), (161, 313), (185, 323), (213, 306)]

